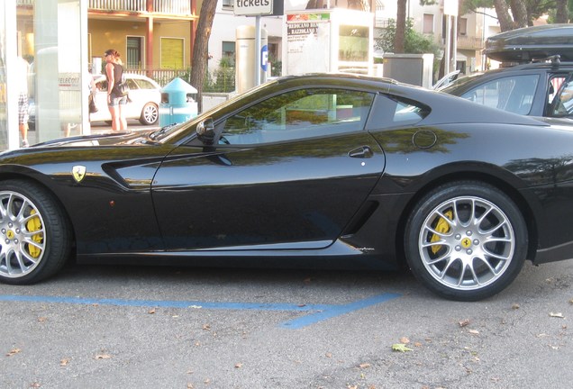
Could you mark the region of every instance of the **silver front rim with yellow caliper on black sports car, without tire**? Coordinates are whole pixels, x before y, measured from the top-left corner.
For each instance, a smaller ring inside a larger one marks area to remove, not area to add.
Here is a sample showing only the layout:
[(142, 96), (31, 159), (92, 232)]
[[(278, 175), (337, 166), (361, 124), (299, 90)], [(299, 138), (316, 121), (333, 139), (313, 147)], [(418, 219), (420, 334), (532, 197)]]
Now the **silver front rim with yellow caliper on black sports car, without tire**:
[(30, 274), (46, 249), (46, 230), (37, 206), (24, 195), (0, 192), (0, 276)]

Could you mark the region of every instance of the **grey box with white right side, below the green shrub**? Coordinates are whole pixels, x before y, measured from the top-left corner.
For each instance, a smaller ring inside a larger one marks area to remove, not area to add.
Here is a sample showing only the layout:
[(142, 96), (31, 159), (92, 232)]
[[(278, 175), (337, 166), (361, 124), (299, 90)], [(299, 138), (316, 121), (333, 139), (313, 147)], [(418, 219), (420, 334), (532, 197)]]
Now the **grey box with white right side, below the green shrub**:
[(384, 77), (432, 89), (433, 54), (385, 53), (383, 62)]

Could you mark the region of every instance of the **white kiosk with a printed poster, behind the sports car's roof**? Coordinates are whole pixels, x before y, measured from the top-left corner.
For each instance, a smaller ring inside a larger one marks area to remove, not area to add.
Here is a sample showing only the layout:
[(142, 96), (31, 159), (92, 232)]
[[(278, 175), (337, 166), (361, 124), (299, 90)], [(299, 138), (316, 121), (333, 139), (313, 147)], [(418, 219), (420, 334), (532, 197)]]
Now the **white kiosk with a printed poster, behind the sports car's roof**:
[(374, 17), (370, 13), (341, 8), (286, 13), (283, 37), (285, 76), (373, 73)]

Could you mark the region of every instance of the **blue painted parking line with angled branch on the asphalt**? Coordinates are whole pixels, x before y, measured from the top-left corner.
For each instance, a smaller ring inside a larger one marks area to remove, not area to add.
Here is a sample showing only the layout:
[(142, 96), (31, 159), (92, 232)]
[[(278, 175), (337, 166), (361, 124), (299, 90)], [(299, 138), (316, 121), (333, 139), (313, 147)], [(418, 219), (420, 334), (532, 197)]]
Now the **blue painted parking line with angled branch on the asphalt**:
[(207, 303), (199, 301), (164, 301), (164, 300), (123, 300), (85, 297), (57, 297), (57, 296), (28, 296), (16, 294), (0, 295), (0, 302), (23, 302), (23, 303), (68, 303), (82, 305), (114, 305), (132, 307), (158, 307), (158, 308), (181, 308), (181, 309), (212, 309), (212, 310), (251, 310), (251, 311), (290, 311), (310, 312), (309, 314), (286, 321), (280, 327), (291, 330), (300, 329), (319, 321), (332, 319), (344, 313), (358, 311), (378, 303), (399, 297), (399, 294), (378, 294), (364, 300), (347, 304), (291, 304), (291, 303)]

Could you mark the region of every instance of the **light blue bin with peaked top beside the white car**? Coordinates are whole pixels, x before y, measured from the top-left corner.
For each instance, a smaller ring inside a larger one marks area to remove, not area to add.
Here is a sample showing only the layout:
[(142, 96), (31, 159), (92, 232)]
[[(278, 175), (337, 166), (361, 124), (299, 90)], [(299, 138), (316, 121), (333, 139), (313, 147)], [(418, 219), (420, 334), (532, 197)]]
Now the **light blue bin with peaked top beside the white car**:
[(197, 90), (179, 77), (161, 89), (159, 104), (159, 127), (186, 122), (197, 115)]

